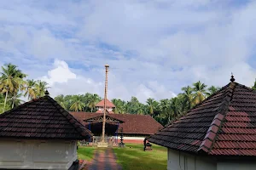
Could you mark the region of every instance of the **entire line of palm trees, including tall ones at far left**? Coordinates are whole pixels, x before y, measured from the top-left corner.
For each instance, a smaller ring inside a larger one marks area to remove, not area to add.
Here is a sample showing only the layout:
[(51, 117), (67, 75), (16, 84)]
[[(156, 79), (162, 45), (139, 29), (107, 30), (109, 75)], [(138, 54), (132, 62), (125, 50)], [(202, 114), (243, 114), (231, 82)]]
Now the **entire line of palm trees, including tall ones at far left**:
[[(0, 113), (9, 111), (22, 104), (24, 101), (20, 97), (35, 99), (44, 96), (44, 92), (49, 88), (47, 82), (40, 80), (26, 79), (27, 75), (18, 69), (18, 66), (6, 64), (2, 66), (0, 75)], [(218, 87), (208, 86), (202, 82), (195, 82), (191, 86), (182, 89), (181, 94), (172, 99), (160, 99), (159, 101), (149, 98), (146, 104), (141, 103), (136, 97), (131, 97), (130, 101), (112, 99), (116, 108), (116, 114), (140, 114), (150, 115), (163, 125), (166, 125), (178, 116), (182, 116), (194, 105), (200, 103), (211, 94), (218, 91)], [(253, 90), (256, 90), (256, 82)], [(80, 95), (58, 95), (55, 100), (67, 111), (96, 111), (96, 104), (102, 100), (98, 94)]]

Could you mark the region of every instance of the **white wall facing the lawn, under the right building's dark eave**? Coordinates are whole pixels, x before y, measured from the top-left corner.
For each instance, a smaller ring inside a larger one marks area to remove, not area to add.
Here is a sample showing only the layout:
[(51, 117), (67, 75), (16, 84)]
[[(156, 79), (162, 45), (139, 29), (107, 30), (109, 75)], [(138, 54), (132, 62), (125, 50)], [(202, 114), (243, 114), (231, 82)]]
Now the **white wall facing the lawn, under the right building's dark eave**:
[(217, 170), (217, 163), (201, 156), (192, 156), (168, 149), (168, 170)]

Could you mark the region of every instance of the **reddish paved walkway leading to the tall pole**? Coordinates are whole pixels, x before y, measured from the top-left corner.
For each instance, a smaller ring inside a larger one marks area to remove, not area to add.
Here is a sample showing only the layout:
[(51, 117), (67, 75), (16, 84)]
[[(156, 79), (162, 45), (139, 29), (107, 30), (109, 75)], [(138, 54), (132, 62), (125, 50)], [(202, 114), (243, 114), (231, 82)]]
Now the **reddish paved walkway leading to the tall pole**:
[(116, 156), (112, 148), (96, 150), (92, 161), (85, 166), (86, 170), (121, 170), (122, 167), (116, 163)]

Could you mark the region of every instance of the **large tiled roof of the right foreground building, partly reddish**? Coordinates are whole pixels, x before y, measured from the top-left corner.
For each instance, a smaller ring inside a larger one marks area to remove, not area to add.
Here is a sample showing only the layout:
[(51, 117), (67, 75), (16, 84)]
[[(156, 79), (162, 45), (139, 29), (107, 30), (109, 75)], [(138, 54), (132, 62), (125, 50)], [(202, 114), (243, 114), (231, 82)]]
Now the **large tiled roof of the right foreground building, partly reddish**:
[(148, 140), (192, 153), (256, 156), (256, 94), (230, 82)]

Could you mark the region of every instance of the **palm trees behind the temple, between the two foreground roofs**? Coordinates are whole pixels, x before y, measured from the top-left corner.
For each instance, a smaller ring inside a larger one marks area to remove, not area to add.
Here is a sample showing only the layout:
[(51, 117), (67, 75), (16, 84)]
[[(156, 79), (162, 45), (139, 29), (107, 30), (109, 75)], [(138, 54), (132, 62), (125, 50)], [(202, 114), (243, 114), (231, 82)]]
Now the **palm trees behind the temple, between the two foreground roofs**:
[[(207, 85), (202, 82), (195, 82), (192, 86), (182, 88), (183, 93), (172, 99), (160, 99), (159, 101), (149, 98), (146, 104), (141, 103), (136, 97), (131, 97), (130, 101), (112, 99), (116, 108), (116, 114), (139, 114), (150, 115), (163, 125), (171, 122), (177, 116), (191, 109), (194, 105), (206, 99), (209, 95), (218, 91), (218, 87)], [(98, 94), (80, 95), (59, 95), (55, 100), (67, 111), (96, 111), (96, 104), (101, 101)]]

